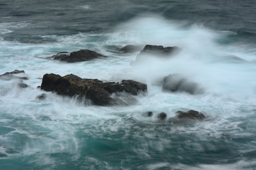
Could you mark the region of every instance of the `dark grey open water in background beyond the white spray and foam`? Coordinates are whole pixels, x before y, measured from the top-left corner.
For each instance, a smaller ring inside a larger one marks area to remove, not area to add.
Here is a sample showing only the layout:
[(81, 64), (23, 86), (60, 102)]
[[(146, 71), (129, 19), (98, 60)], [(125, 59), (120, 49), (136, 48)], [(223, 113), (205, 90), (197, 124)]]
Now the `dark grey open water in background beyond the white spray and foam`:
[[(255, 39), (256, 2), (217, 1), (6, 1), (2, 0), (1, 23), (29, 21), (31, 27), (11, 29), (6, 40), (35, 35), (69, 35), (78, 32), (106, 31), (120, 22), (144, 13), (166, 19), (202, 24), (214, 30), (233, 31)], [(242, 37), (243, 37), (242, 36)]]

